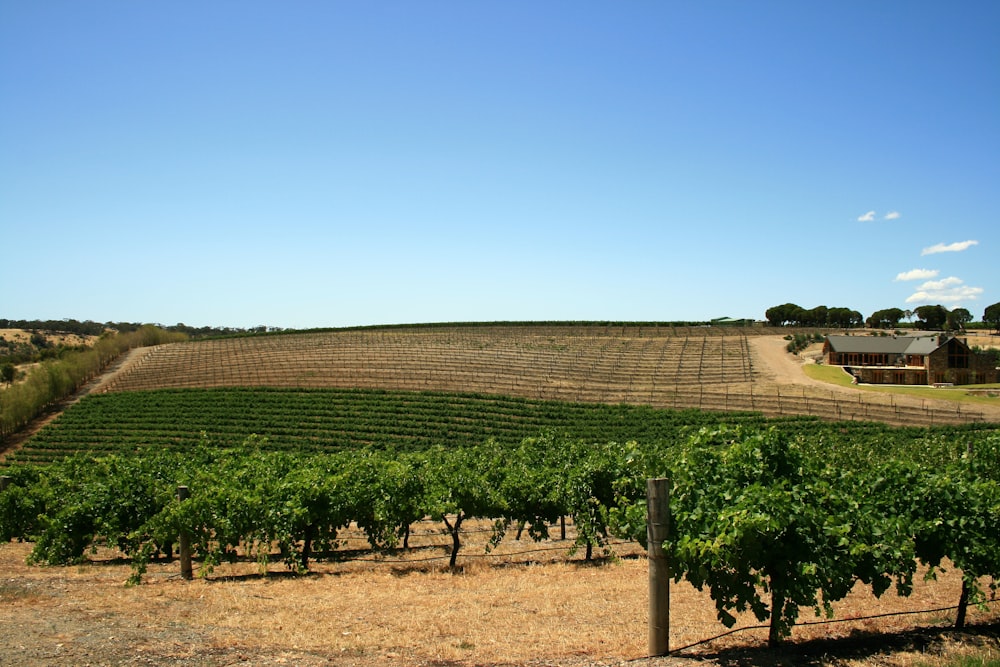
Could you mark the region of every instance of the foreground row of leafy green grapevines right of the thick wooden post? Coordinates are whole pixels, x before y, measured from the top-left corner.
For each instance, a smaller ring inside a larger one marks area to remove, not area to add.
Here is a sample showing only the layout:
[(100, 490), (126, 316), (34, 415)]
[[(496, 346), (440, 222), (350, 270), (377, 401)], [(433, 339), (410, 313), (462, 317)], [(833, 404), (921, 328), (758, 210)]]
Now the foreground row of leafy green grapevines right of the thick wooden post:
[[(927, 466), (924, 454), (902, 447), (899, 458), (841, 465), (850, 451), (831, 457), (836, 447), (809, 440), (776, 429), (701, 429), (662, 466), (673, 482), (664, 548), (675, 578), (708, 587), (724, 624), (750, 611), (770, 619), (777, 643), (800, 606), (829, 615), (858, 581), (877, 596), (893, 582), (908, 594), (918, 560), (951, 559), (982, 599), (974, 582), (995, 577), (1000, 560), (995, 433), (939, 443)], [(612, 517), (622, 534), (644, 540), (642, 500)]]

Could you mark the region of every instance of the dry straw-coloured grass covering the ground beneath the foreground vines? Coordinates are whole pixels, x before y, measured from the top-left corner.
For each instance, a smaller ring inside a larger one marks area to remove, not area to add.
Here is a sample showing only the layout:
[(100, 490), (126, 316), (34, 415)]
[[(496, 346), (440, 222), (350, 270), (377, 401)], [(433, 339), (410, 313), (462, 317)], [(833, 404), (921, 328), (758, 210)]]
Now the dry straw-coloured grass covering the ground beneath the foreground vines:
[[(434, 533), (431, 529), (423, 538), (433, 540)], [(648, 574), (641, 551), (625, 545), (619, 547), (623, 557), (588, 564), (580, 554), (566, 557), (568, 543), (543, 544), (555, 551), (534, 551), (538, 547), (509, 536), (504, 553), (484, 558), (481, 546), (469, 545), (458, 573), (428, 560), (443, 555), (443, 549), (429, 546), (374, 563), (320, 562), (306, 576), (289, 575), (275, 564), (262, 576), (258, 565), (236, 563), (187, 582), (178, 576), (176, 562), (155, 563), (142, 585), (127, 588), (130, 569), (113, 559), (29, 568), (23, 564), (29, 545), (9, 544), (0, 546), (5, 572), (0, 635), (33, 634), (41, 645), (86, 651), (88, 638), (104, 641), (103, 632), (124, 642), (119, 650), (129, 655), (224, 656), (199, 664), (230, 664), (226, 661), (233, 656), (244, 656), (243, 662), (252, 664), (672, 664), (697, 658), (733, 665), (916, 667), (945, 663), (919, 662), (936, 659), (940, 642), (929, 649), (909, 631), (947, 626), (953, 612), (864, 617), (949, 607), (960, 586), (955, 572), (920, 582), (908, 599), (887, 594), (876, 600), (859, 586), (837, 605), (837, 618), (856, 620), (803, 624), (784, 651), (763, 651), (766, 630), (760, 629), (689, 649), (683, 659), (650, 661), (643, 658)], [(725, 631), (707, 593), (681, 583), (672, 587), (671, 598), (671, 646)], [(998, 619), (995, 609), (990, 614), (970, 610), (972, 623)], [(805, 610), (801, 620), (813, 620), (812, 613)], [(752, 616), (739, 619), (739, 627), (757, 624)], [(995, 651), (995, 633), (992, 642), (994, 648), (977, 650)], [(969, 643), (966, 639), (962, 646)], [(891, 657), (882, 654), (885, 649), (894, 651)], [(102, 644), (100, 650), (107, 647)], [(830, 662), (831, 656), (840, 657)], [(0, 664), (5, 657), (0, 650)]]

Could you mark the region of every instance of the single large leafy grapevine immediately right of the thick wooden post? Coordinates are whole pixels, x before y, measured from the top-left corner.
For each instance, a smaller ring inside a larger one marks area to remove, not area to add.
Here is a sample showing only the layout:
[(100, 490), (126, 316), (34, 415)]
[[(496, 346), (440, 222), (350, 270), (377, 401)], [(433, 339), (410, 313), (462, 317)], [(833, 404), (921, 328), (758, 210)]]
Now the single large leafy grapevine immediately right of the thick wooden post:
[(672, 477), (676, 537), (667, 547), (677, 577), (708, 586), (727, 626), (732, 611), (749, 609), (771, 619), (773, 643), (800, 606), (830, 615), (830, 603), (851, 590), (858, 501), (844, 473), (776, 431), (714, 432), (691, 439)]

